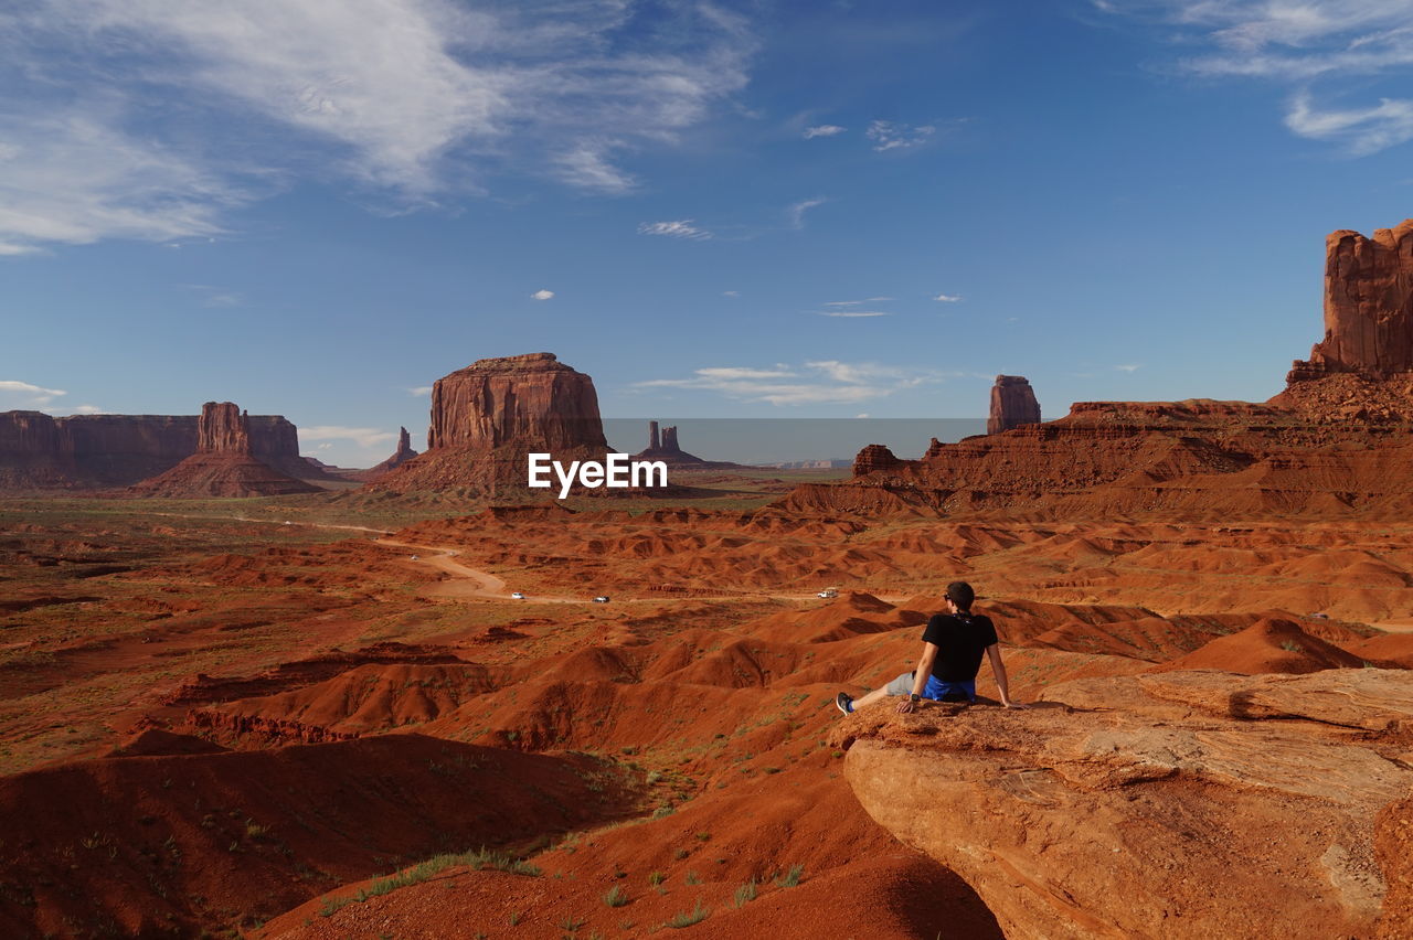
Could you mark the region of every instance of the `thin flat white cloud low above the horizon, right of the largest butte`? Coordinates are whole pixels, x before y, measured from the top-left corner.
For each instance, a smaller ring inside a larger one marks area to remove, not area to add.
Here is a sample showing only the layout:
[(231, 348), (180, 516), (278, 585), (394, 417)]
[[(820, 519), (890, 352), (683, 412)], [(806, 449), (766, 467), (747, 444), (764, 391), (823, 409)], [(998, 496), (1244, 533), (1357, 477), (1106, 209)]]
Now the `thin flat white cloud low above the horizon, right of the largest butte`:
[(636, 385), (701, 390), (738, 401), (760, 401), (771, 405), (831, 405), (886, 398), (904, 388), (942, 378), (945, 374), (934, 370), (820, 360), (798, 368), (787, 366), (698, 368), (691, 378), (657, 378)]

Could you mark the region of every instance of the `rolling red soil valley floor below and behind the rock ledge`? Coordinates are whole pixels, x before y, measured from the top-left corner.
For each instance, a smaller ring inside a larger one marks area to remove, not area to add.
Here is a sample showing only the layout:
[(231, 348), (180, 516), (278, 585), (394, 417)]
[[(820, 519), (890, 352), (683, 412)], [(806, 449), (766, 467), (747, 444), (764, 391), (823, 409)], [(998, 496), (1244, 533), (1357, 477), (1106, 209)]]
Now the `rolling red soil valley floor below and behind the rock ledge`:
[[(1393, 524), (543, 507), (421, 522), (403, 546), (130, 558), (82, 586), (25, 559), (107, 565), (119, 535), (11, 538), (14, 936), (267, 917), (267, 937), (499, 936), (512, 913), (526, 936), (581, 920), (578, 936), (639, 936), (699, 900), (709, 916), (684, 927), (699, 936), (995, 937), (965, 885), (859, 809), (824, 744), (835, 692), (914, 666), (948, 580), (982, 590), (1022, 699), (1177, 663), (1406, 665), (1413, 637), (1365, 625), (1413, 614)], [(447, 590), (462, 576), (430, 563), (445, 550), (531, 600)], [(996, 693), (985, 666), (979, 687)], [(68, 744), (65, 727), (82, 734)], [(482, 843), (543, 874), (448, 869), (321, 915), (325, 892)], [(797, 886), (776, 884), (796, 867)], [(752, 879), (759, 898), (738, 908)], [(603, 900), (615, 885), (620, 908)]]

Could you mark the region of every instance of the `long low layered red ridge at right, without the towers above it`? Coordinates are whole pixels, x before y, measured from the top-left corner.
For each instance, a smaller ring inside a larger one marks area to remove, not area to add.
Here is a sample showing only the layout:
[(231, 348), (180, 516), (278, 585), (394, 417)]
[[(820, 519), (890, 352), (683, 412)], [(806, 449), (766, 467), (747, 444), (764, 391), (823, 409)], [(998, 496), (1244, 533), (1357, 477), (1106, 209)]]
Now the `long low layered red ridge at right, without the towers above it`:
[(920, 460), (870, 469), (835, 484), (832, 507), (828, 486), (811, 484), (808, 505), (883, 505), (858, 493), (875, 488), (937, 515), (1392, 519), (1413, 511), (1410, 459), (1413, 439), (1397, 425), (1320, 423), (1248, 402), (1078, 402), (1058, 421), (934, 443)]

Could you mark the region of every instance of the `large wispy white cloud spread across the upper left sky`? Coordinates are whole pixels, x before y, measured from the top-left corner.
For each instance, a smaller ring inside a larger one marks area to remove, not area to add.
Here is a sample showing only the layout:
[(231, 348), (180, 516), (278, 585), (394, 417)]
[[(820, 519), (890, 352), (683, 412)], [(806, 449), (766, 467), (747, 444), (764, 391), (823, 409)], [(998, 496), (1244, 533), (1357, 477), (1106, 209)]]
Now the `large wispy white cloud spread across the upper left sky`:
[[(47, 0), (0, 14), (0, 254), (174, 241), (301, 176), (406, 206), (537, 175), (633, 188), (743, 89), (715, 6)], [(632, 35), (626, 42), (623, 37)]]

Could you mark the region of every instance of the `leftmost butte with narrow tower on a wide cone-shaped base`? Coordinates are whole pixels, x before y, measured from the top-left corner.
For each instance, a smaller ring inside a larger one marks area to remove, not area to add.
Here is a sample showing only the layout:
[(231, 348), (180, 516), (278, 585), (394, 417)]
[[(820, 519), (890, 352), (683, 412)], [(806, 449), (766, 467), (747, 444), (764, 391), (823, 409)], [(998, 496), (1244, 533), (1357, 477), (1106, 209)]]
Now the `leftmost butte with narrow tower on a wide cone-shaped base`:
[(130, 487), (133, 495), (202, 498), (318, 493), (252, 454), (250, 418), (235, 404), (208, 401), (196, 426), (196, 453)]

